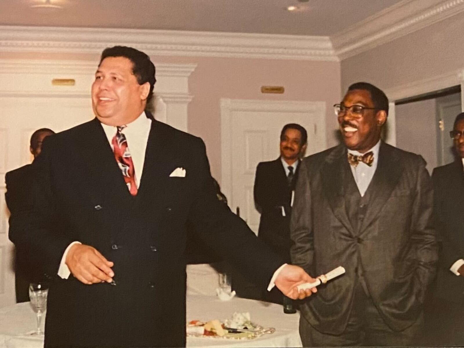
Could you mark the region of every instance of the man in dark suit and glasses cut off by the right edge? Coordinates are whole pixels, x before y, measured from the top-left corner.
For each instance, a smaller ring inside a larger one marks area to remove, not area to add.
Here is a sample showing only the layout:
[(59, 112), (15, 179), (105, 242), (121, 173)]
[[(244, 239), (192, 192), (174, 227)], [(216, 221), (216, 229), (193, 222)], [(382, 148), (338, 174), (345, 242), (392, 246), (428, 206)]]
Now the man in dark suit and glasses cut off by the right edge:
[(442, 243), (430, 321), (432, 344), (464, 346), (464, 113), (456, 116), (450, 132), (456, 161), (432, 173), (434, 213)]

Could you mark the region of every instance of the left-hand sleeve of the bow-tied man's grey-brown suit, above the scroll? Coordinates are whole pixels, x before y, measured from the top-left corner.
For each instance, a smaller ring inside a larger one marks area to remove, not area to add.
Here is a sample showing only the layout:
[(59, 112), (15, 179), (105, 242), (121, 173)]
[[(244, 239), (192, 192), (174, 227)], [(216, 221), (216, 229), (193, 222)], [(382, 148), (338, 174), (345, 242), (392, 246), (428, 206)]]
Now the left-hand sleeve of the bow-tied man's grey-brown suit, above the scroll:
[(314, 237), (311, 217), (311, 188), (306, 162), (300, 163), (296, 181), (295, 201), (290, 222), (290, 248), (292, 264), (302, 267), (309, 275), (314, 274)]

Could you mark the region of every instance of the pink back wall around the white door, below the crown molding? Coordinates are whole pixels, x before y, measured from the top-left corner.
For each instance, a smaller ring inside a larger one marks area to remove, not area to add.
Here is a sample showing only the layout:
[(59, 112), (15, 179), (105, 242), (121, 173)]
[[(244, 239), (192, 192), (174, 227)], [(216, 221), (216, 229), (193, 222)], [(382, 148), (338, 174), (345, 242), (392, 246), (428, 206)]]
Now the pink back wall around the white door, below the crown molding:
[[(5, 59), (72, 59), (98, 61), (94, 54), (0, 53)], [(327, 103), (327, 145), (336, 143), (331, 106), (340, 99), (340, 63), (296, 60), (152, 57), (156, 63), (195, 63), (189, 77), (193, 100), (188, 106), (188, 131), (206, 143), (211, 171), (221, 179), (220, 98), (323, 101)], [(261, 85), (285, 87), (283, 95), (262, 94)], [(278, 139), (276, 139), (276, 143)]]

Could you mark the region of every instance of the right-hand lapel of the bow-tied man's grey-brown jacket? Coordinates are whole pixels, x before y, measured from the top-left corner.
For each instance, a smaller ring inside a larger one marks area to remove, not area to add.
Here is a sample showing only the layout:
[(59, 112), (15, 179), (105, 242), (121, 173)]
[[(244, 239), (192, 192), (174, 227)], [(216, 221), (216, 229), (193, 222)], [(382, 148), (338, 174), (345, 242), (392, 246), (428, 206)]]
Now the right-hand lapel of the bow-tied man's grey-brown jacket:
[(403, 166), (390, 145), (380, 143), (379, 163), (367, 190), (371, 190), (371, 200), (367, 205), (365, 219), (360, 234), (377, 218), (400, 180)]

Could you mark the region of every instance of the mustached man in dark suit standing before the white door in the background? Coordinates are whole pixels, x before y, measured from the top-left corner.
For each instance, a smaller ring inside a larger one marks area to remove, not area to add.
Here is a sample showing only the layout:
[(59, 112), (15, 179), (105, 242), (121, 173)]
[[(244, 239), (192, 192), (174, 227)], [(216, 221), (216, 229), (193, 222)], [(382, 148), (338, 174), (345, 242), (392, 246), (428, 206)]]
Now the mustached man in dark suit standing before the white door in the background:
[[(261, 213), (258, 238), (288, 263), (291, 197), (307, 140), (306, 129), (296, 123), (286, 124), (280, 133), (280, 157), (260, 162), (256, 168), (254, 198)], [(284, 298), (278, 289), (263, 291), (263, 296), (275, 303), (282, 303)]]

